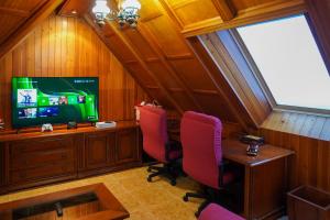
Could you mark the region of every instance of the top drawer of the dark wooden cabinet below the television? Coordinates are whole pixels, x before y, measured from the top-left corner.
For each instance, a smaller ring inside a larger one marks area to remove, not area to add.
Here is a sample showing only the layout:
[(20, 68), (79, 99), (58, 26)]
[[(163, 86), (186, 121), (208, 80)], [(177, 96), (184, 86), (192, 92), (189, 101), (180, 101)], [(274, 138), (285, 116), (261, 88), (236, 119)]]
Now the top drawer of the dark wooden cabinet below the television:
[(11, 155), (20, 155), (31, 152), (45, 152), (58, 148), (74, 147), (73, 138), (36, 139), (30, 141), (13, 142), (10, 144)]

